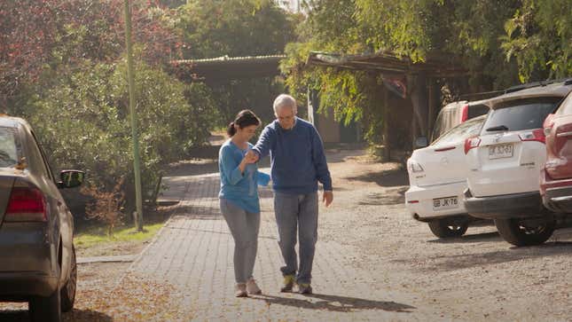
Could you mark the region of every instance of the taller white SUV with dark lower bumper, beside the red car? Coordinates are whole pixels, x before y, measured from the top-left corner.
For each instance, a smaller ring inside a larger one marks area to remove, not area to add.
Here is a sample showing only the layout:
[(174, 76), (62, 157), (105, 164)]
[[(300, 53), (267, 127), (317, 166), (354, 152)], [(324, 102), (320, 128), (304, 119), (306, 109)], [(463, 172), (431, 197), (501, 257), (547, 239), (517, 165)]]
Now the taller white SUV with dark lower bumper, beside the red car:
[(570, 90), (572, 84), (552, 82), (491, 98), (479, 137), (466, 139), (465, 208), (471, 216), (494, 219), (513, 245), (543, 243), (554, 230), (538, 191), (546, 160), (542, 127)]

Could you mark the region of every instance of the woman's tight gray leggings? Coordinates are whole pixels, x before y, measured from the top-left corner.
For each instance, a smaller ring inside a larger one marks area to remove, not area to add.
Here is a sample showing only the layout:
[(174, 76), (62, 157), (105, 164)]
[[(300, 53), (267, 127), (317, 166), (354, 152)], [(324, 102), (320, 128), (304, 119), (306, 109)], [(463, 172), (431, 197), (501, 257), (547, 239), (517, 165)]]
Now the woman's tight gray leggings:
[(234, 239), (234, 278), (246, 283), (255, 268), (260, 213), (250, 213), (221, 198), (221, 211)]

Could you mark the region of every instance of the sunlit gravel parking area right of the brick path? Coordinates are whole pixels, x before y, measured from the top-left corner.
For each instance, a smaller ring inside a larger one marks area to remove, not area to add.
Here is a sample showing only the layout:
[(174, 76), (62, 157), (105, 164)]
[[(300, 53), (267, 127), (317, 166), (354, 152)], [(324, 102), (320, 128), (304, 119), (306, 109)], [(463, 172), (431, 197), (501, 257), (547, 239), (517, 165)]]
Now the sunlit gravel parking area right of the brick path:
[(375, 287), (411, 295), (412, 319), (572, 319), (572, 229), (537, 247), (513, 247), (491, 224), (439, 240), (404, 208), (398, 164), (359, 150), (331, 151), (328, 161), (336, 193), (321, 209), (321, 240), (353, 247)]

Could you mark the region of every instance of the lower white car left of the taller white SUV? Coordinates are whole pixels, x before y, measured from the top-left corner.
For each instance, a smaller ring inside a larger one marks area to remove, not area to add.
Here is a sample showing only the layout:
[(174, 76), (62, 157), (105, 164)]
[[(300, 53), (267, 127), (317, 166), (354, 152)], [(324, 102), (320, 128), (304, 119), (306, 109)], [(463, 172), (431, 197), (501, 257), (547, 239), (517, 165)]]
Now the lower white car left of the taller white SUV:
[(479, 133), (484, 120), (482, 115), (459, 124), (431, 145), (413, 151), (407, 161), (410, 187), (405, 192), (405, 207), (437, 237), (462, 236), (474, 220), (463, 206), (464, 144), (467, 137)]

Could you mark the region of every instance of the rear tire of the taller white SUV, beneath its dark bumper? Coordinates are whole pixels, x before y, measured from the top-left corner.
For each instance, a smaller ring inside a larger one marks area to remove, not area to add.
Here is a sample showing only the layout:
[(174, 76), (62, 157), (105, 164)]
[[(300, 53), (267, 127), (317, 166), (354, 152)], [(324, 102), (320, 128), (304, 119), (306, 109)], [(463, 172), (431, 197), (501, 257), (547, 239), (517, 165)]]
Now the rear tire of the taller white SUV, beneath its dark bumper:
[(549, 217), (543, 224), (536, 227), (526, 227), (521, 219), (495, 219), (500, 236), (514, 246), (540, 245), (548, 240), (554, 232), (556, 221)]

